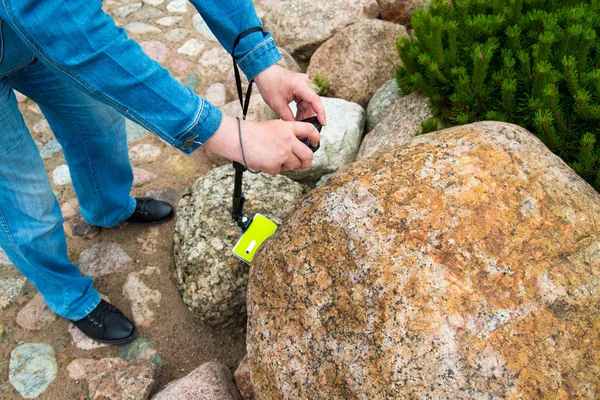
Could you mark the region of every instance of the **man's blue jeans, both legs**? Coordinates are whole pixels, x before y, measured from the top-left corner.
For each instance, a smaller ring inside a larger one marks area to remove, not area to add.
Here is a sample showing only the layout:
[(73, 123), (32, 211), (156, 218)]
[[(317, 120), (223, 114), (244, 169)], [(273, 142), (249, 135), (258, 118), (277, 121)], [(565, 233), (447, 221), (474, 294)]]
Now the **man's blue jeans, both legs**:
[(39, 62), (7, 24), (0, 28), (0, 246), (52, 311), (78, 320), (100, 295), (69, 260), (60, 207), (13, 89), (40, 106), (91, 225), (112, 227), (135, 209), (125, 121)]

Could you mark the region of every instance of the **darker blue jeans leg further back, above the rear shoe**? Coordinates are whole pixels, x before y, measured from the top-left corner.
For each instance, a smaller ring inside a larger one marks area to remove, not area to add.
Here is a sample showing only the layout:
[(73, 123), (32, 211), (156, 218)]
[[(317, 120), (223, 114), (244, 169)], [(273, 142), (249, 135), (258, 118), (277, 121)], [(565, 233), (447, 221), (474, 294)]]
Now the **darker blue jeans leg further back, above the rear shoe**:
[(48, 120), (63, 147), (86, 221), (113, 227), (127, 219), (136, 203), (129, 194), (133, 172), (124, 118), (42, 63), (10, 75), (8, 81), (38, 103)]

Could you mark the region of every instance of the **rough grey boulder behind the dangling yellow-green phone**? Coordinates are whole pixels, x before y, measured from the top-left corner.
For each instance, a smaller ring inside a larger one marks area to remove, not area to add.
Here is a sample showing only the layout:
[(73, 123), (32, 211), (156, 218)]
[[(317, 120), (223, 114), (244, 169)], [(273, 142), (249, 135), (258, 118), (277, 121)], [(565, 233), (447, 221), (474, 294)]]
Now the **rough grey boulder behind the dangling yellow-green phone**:
[[(198, 179), (177, 209), (173, 258), (185, 304), (203, 321), (221, 326), (246, 317), (248, 265), (232, 249), (241, 231), (231, 219), (234, 170), (223, 166)], [(244, 175), (246, 215), (261, 213), (281, 224), (304, 195), (284, 177)]]

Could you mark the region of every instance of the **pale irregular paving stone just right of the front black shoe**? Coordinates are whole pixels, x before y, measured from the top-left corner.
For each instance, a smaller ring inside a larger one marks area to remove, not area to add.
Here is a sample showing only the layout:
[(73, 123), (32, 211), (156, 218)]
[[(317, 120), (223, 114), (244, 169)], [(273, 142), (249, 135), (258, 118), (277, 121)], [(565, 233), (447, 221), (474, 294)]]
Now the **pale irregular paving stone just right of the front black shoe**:
[(154, 311), (151, 309), (160, 305), (162, 298), (158, 290), (148, 288), (142, 282), (141, 275), (152, 273), (153, 268), (147, 268), (142, 272), (132, 272), (123, 285), (123, 295), (131, 302), (131, 313), (136, 325), (149, 327), (154, 322)]

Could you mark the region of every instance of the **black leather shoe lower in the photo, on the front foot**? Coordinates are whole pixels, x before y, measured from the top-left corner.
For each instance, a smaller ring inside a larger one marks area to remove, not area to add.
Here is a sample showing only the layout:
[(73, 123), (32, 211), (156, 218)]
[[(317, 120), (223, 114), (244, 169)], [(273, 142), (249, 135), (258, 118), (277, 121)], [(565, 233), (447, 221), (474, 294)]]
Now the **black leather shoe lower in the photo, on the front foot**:
[(133, 340), (137, 329), (121, 310), (100, 300), (100, 304), (79, 321), (71, 321), (87, 337), (106, 344), (125, 344)]

